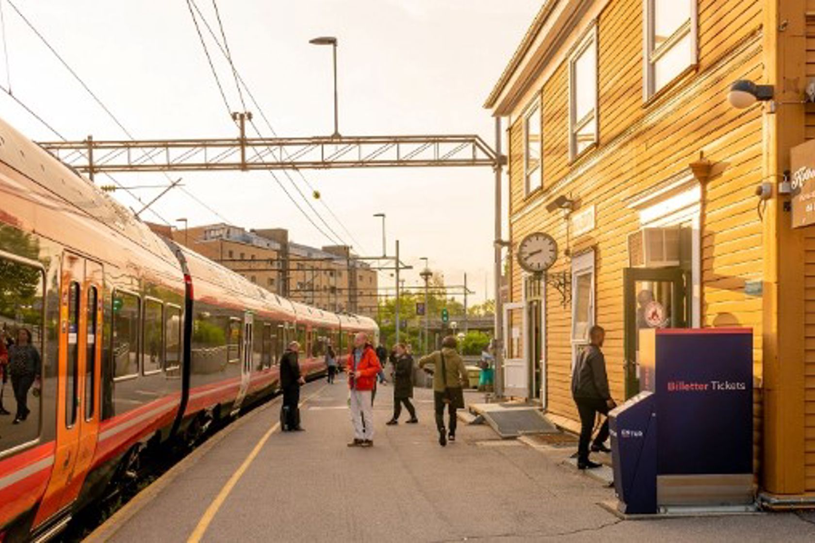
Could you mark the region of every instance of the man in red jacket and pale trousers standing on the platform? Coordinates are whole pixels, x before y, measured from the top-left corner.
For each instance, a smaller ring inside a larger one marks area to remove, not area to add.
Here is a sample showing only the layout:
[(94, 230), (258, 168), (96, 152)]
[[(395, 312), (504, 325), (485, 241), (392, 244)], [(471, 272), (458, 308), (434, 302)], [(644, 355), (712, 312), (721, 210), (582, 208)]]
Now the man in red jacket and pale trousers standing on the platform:
[(373, 445), (373, 405), (371, 393), (382, 370), (376, 351), (368, 343), (368, 336), (360, 332), (354, 336), (354, 348), (348, 355), (348, 388), (350, 388), (351, 423), (354, 440), (349, 447)]

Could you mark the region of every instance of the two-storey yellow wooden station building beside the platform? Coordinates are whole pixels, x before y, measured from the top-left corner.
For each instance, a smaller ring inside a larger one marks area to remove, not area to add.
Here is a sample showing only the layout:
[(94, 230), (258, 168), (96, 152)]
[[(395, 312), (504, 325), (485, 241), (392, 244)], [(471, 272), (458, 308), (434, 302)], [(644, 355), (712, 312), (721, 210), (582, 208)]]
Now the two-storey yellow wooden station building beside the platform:
[[(576, 428), (588, 326), (618, 401), (642, 327), (750, 326), (761, 496), (815, 504), (815, 226), (784, 183), (811, 77), (813, 0), (543, 2), (486, 103), (508, 126), (508, 393)], [(734, 107), (742, 80), (771, 99)], [(557, 242), (543, 282), (516, 260), (533, 232)]]

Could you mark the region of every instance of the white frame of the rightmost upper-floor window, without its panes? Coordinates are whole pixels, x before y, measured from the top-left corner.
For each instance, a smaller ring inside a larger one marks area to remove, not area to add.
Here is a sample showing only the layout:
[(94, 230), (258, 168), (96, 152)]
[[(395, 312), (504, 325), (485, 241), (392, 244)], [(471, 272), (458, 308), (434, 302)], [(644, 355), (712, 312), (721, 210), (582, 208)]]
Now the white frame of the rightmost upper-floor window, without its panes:
[(690, 62), (685, 69), (696, 66), (698, 63), (698, 1), (697, 0), (676, 0), (676, 2), (690, 2), (690, 19), (677, 28), (676, 32), (667, 39), (662, 46), (654, 50), (654, 0), (642, 0), (642, 13), (644, 20), (642, 21), (643, 29), (643, 47), (642, 47), (642, 69), (643, 69), (643, 99), (645, 102), (651, 99), (654, 94), (659, 93), (668, 85), (671, 85), (676, 78), (681, 77), (685, 72), (682, 70), (671, 81), (667, 81), (665, 85), (659, 89), (655, 88), (656, 85), (654, 77), (654, 64), (663, 58), (668, 51), (676, 46), (685, 36), (690, 35)]

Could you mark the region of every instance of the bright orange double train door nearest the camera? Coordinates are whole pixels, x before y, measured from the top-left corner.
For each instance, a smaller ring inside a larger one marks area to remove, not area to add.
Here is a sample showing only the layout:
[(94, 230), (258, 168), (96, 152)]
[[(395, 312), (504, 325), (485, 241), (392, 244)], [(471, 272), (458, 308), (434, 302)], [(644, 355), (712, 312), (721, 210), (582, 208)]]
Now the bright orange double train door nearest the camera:
[(102, 266), (66, 252), (60, 280), (54, 469), (35, 526), (77, 499), (99, 433)]

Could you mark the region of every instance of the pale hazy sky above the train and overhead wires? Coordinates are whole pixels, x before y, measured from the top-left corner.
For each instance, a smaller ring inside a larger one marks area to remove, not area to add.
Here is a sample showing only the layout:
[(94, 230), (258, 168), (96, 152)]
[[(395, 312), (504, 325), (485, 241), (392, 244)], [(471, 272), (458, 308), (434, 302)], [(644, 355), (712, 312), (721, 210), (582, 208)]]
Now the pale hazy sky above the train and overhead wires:
[[(5, 49), (0, 85), (64, 138), (81, 140), (89, 134), (95, 139), (126, 135), (12, 4), (134, 138), (236, 137), (186, 0), (0, 0)], [(217, 28), (213, 3), (196, 4)], [(308, 41), (336, 36), (341, 134), (480, 134), (494, 145), (494, 120), (482, 104), (540, 5), (541, 0), (222, 0), (218, 11), (236, 69), (280, 136), (333, 132), (331, 50)], [(214, 42), (207, 43), (230, 109), (239, 111), (228, 63)], [(35, 141), (56, 138), (2, 92), (0, 111)], [(264, 135), (271, 136), (267, 130)], [(384, 212), (389, 254), (399, 239), (402, 260), (415, 266), (403, 272), (406, 285), (420, 284), (420, 258), (426, 256), (447, 284), (460, 284), (468, 274), (476, 291), (471, 303), (493, 297), (491, 169), (303, 173), (321, 195), (311, 204), (358, 254), (381, 253), (381, 219), (372, 215)], [(293, 181), (277, 175), (293, 195), (292, 182), (311, 195), (297, 174), (291, 174)], [(115, 177), (126, 186), (167, 182), (156, 173)], [(205, 205), (172, 190), (152, 206), (165, 221), (179, 224), (175, 220), (186, 217), (190, 226), (198, 226), (223, 218), (245, 228), (288, 228), (297, 243), (332, 244), (267, 172), (180, 177), (185, 190)], [(138, 195), (147, 202), (158, 191), (138, 190)], [(115, 197), (140, 208), (121, 190)], [(161, 222), (149, 213), (143, 217)], [(393, 282), (389, 276), (382, 272), (381, 283)]]

